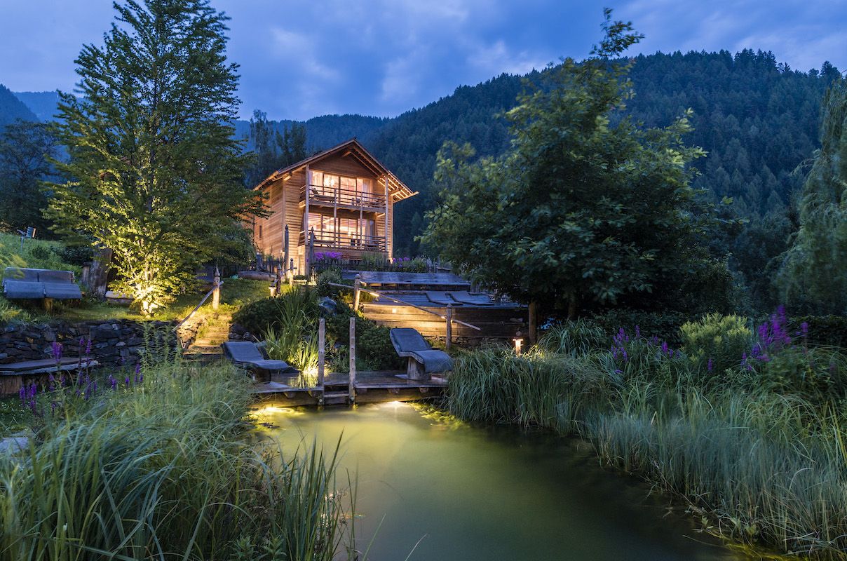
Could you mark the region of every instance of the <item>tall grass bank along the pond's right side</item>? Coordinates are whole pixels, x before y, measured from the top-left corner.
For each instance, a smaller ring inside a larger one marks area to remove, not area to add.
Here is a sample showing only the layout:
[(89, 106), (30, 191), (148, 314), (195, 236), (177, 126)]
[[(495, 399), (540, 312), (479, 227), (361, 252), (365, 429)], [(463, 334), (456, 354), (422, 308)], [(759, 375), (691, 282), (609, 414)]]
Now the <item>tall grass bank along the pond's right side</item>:
[(589, 439), (606, 463), (686, 497), (722, 536), (847, 557), (844, 355), (788, 349), (724, 374), (672, 352), (644, 337), (584, 352), (559, 333), (522, 357), (464, 353), (447, 405)]

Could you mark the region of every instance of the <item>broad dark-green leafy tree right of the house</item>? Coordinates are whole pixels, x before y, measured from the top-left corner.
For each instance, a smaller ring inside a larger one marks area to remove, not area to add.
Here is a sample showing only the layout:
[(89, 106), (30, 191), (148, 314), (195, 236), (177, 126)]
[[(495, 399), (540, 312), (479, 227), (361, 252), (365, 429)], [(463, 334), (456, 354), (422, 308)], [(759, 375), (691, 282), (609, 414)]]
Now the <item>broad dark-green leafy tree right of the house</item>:
[(621, 53), (640, 36), (612, 22), (591, 58), (540, 75), (507, 113), (512, 149), (468, 160), (439, 153), (446, 185), (424, 242), (477, 280), (573, 316), (682, 284), (703, 260), (686, 147), (687, 113), (665, 128), (623, 114), (631, 95)]

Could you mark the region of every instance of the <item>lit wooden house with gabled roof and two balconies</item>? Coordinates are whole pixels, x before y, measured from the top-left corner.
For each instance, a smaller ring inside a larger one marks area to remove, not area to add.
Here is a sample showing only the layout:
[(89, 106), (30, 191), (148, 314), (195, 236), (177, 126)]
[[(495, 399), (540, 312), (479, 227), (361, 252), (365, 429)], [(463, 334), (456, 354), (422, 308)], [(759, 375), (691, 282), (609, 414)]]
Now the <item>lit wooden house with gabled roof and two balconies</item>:
[(313, 253), (392, 258), (394, 205), (417, 194), (356, 139), (279, 169), (255, 189), (266, 194), (270, 211), (250, 225), (257, 251), (274, 260), (289, 255), (295, 274), (309, 270), (311, 240)]

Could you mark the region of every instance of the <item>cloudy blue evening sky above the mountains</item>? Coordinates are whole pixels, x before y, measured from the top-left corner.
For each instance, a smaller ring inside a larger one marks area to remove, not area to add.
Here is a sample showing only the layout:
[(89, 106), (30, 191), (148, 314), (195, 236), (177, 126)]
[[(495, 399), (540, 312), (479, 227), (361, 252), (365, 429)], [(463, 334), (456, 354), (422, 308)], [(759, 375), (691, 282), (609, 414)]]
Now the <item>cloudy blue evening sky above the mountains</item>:
[[(0, 83), (69, 90), (111, 0), (0, 0)], [(847, 0), (213, 0), (241, 64), (241, 114), (393, 116), (463, 84), (583, 58), (603, 6), (646, 38), (633, 52), (771, 50), (795, 69), (847, 69)]]

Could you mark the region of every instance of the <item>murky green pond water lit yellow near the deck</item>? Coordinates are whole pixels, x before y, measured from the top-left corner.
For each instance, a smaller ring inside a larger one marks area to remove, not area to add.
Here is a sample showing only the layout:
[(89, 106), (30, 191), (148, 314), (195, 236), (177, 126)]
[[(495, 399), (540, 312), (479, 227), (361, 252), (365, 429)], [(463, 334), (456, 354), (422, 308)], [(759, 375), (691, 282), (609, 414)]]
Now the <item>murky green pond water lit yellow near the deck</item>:
[[(603, 469), (582, 442), (480, 428), (405, 403), (265, 408), (292, 450), (333, 448), (357, 475), (357, 548), (368, 559), (737, 559), (638, 480)], [(379, 528), (379, 530), (377, 530)]]

